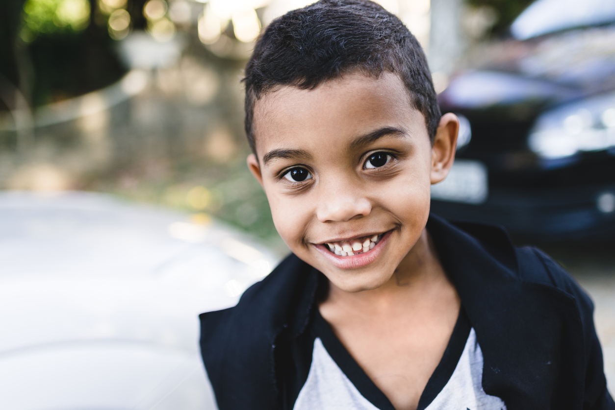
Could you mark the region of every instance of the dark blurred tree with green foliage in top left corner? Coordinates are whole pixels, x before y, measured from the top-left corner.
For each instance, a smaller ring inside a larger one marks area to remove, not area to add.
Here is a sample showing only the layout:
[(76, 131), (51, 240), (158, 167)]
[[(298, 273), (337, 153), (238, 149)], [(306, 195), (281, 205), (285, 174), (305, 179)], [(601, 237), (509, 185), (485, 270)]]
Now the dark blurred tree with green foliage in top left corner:
[(34, 106), (100, 89), (125, 73), (106, 20), (95, 23), (96, 0), (7, 0), (3, 8), (0, 74)]

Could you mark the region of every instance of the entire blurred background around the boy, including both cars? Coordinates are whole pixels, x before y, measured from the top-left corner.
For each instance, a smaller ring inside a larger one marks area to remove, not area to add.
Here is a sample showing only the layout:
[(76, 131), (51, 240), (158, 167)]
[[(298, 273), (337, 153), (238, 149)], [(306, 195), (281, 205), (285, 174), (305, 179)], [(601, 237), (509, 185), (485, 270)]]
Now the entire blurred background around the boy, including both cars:
[[(0, 403), (13, 397), (2, 408), (212, 408), (196, 315), (231, 306), (287, 253), (245, 165), (242, 69), (260, 30), (309, 2), (4, 1), (0, 324), (23, 337), (0, 341), (13, 366), (0, 371), (13, 383), (0, 383)], [(575, 275), (597, 302), (612, 390), (615, 2), (378, 2), (421, 42), (443, 112), (461, 121), (432, 208), (502, 224)], [(165, 364), (130, 361), (144, 354)], [(148, 381), (117, 393), (136, 380)], [(46, 393), (24, 395), (36, 383)]]

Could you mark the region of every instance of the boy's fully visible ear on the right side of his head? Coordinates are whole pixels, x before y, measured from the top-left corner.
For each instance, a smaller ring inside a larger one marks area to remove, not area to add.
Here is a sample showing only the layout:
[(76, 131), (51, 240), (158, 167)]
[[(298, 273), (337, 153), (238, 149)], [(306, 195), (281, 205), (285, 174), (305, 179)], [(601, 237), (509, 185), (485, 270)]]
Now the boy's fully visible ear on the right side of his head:
[(459, 119), (452, 112), (440, 118), (431, 149), (431, 183), (436, 184), (446, 178), (455, 159)]

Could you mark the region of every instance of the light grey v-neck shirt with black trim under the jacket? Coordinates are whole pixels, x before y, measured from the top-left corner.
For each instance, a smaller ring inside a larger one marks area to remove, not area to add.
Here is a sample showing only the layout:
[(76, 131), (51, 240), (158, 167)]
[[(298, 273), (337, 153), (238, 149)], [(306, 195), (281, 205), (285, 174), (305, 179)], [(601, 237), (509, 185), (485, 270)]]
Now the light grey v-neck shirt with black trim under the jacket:
[[(297, 366), (293, 410), (395, 410), (314, 309), (308, 343)], [(504, 402), (482, 388), (483, 357), (463, 308), (437, 368), (421, 394), (417, 410), (506, 409)], [(309, 369), (306, 374), (306, 369)], [(287, 385), (292, 388), (293, 385)], [(290, 408), (290, 406), (289, 406)]]

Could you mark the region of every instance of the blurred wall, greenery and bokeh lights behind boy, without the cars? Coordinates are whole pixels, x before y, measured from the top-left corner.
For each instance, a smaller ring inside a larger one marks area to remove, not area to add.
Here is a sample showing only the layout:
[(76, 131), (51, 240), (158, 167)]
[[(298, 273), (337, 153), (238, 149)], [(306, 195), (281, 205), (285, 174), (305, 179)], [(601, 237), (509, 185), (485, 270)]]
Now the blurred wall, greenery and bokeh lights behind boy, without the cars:
[[(528, 0), (387, 0), (443, 87)], [(0, 189), (111, 192), (221, 218), (276, 245), (245, 167), (239, 83), (262, 26), (301, 0), (9, 0)], [(249, 199), (249, 200), (247, 200)]]

